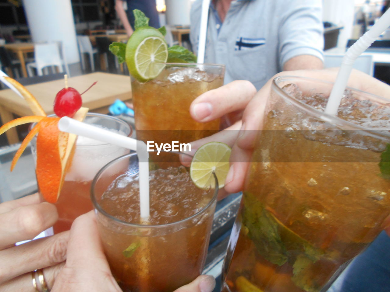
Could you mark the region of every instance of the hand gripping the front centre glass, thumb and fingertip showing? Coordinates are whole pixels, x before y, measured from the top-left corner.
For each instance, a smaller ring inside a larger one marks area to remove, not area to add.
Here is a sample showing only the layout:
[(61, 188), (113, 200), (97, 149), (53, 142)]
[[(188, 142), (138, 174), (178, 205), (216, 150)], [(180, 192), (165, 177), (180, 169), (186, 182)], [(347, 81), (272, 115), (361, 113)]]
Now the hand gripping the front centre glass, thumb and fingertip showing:
[[(203, 275), (175, 292), (211, 292), (214, 287), (214, 278)], [(66, 264), (51, 290), (63, 291), (122, 291), (103, 253), (94, 211), (76, 218), (72, 225)]]

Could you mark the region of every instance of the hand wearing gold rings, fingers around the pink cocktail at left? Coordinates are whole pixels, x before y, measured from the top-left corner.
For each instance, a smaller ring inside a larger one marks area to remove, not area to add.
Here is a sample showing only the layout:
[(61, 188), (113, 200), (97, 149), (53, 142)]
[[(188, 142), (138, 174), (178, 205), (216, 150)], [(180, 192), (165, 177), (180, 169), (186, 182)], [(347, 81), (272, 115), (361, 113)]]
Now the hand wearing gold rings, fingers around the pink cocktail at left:
[(29, 195), (0, 204), (0, 291), (35, 292), (32, 275), (42, 269), (50, 289), (66, 259), (69, 232), (33, 239), (58, 219), (53, 204), (41, 202), (39, 195)]

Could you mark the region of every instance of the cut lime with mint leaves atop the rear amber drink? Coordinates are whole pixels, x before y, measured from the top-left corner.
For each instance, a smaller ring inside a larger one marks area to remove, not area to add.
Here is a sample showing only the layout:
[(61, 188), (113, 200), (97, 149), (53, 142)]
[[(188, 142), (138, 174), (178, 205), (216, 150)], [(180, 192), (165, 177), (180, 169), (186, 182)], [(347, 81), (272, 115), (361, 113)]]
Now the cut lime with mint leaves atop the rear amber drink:
[(168, 46), (164, 36), (155, 28), (138, 28), (126, 46), (126, 62), (130, 74), (138, 81), (156, 78), (168, 59)]

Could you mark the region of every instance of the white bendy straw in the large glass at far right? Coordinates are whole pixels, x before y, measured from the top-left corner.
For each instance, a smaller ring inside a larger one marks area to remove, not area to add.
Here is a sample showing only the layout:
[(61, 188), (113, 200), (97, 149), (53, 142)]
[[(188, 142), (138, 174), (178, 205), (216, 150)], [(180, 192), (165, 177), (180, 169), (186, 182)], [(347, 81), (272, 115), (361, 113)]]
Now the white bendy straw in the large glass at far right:
[(344, 55), (335, 84), (330, 93), (325, 113), (336, 115), (340, 106), (344, 89), (347, 86), (349, 75), (351, 74), (353, 63), (362, 53), (390, 26), (390, 9), (376, 21), (372, 28), (360, 37)]

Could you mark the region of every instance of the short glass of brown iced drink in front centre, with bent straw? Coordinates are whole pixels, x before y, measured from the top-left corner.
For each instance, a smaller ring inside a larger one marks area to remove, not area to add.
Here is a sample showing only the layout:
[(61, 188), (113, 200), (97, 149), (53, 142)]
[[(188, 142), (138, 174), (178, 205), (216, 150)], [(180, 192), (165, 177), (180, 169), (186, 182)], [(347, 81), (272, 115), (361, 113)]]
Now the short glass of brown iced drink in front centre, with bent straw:
[(103, 248), (125, 292), (172, 292), (199, 276), (206, 260), (218, 182), (201, 190), (183, 166), (151, 171), (149, 181), (148, 222), (139, 218), (135, 153), (107, 164), (92, 182)]

